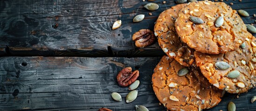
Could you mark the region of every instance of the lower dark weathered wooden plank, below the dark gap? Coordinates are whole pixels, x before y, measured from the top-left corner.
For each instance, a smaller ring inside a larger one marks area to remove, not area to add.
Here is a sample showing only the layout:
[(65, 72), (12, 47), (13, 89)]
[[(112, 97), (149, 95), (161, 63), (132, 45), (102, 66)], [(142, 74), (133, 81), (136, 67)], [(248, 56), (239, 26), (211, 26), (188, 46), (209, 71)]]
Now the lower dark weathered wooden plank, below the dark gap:
[[(159, 105), (151, 84), (153, 68), (160, 57), (147, 58), (81, 58), (81, 57), (1, 57), (1, 110), (80, 110), (97, 111), (107, 107), (113, 111), (135, 111), (144, 105), (150, 111), (165, 111)], [(138, 97), (125, 103), (128, 87), (118, 86), (116, 75), (125, 67), (139, 70)], [(118, 92), (122, 101), (111, 98)], [(250, 99), (256, 89), (236, 94), (226, 93), (221, 103), (209, 111), (227, 111), (233, 101), (237, 111), (255, 111)]]

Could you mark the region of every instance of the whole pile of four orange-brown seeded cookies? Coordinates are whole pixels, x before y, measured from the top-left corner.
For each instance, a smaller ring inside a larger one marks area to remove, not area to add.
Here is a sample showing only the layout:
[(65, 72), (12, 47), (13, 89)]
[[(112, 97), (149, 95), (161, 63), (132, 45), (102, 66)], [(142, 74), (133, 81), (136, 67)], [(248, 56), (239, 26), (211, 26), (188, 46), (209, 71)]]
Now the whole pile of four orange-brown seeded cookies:
[(153, 90), (169, 110), (209, 109), (228, 93), (256, 86), (256, 38), (223, 2), (198, 1), (162, 12), (154, 27), (163, 56)]

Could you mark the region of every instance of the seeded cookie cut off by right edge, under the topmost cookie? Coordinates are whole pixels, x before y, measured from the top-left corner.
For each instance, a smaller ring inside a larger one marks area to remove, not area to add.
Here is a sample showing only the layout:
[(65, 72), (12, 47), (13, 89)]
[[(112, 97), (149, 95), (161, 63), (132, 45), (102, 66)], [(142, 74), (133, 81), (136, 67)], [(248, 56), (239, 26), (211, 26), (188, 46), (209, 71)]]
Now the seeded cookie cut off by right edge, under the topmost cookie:
[[(256, 38), (252, 35), (247, 37), (244, 46), (244, 49), (239, 47), (234, 51), (218, 55), (195, 51), (196, 65), (200, 67), (209, 82), (219, 89), (224, 89), (228, 93), (247, 92), (256, 86)], [(222, 61), (227, 62), (230, 67), (226, 70), (218, 69), (215, 63)], [(239, 71), (238, 77), (234, 76), (235, 74), (233, 77), (228, 75), (234, 70)]]

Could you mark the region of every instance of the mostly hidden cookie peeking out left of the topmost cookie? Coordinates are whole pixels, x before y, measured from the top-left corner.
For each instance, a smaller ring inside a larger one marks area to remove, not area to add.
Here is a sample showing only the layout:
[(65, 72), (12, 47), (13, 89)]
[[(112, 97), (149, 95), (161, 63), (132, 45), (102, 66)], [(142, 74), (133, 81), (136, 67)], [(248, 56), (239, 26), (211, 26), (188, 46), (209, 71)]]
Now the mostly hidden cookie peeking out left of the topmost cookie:
[(175, 58), (183, 66), (190, 66), (194, 62), (194, 49), (189, 48), (180, 40), (174, 26), (179, 10), (186, 5), (172, 6), (162, 12), (156, 21), (154, 32), (158, 37), (159, 46), (167, 56)]

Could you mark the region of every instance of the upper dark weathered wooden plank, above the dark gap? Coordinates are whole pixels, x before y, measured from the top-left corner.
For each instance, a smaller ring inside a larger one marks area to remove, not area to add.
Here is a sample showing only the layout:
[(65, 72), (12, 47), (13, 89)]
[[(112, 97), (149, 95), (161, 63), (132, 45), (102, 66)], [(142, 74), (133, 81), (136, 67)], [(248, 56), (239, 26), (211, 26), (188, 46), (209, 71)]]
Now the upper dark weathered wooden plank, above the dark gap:
[[(6, 46), (7, 54), (12, 56), (162, 56), (158, 43), (136, 48), (131, 40), (132, 34), (140, 29), (153, 30), (159, 14), (176, 5), (173, 0), (166, 0), (166, 4), (156, 0), (159, 9), (148, 11), (143, 6), (149, 2), (1, 0), (0, 46)], [(246, 24), (255, 23), (252, 16), (256, 12), (255, 0), (225, 2), (233, 2), (233, 9), (249, 12), (249, 17), (242, 18)], [(138, 14), (145, 14), (145, 19), (133, 23)], [(111, 30), (113, 22), (119, 19), (121, 27)]]

